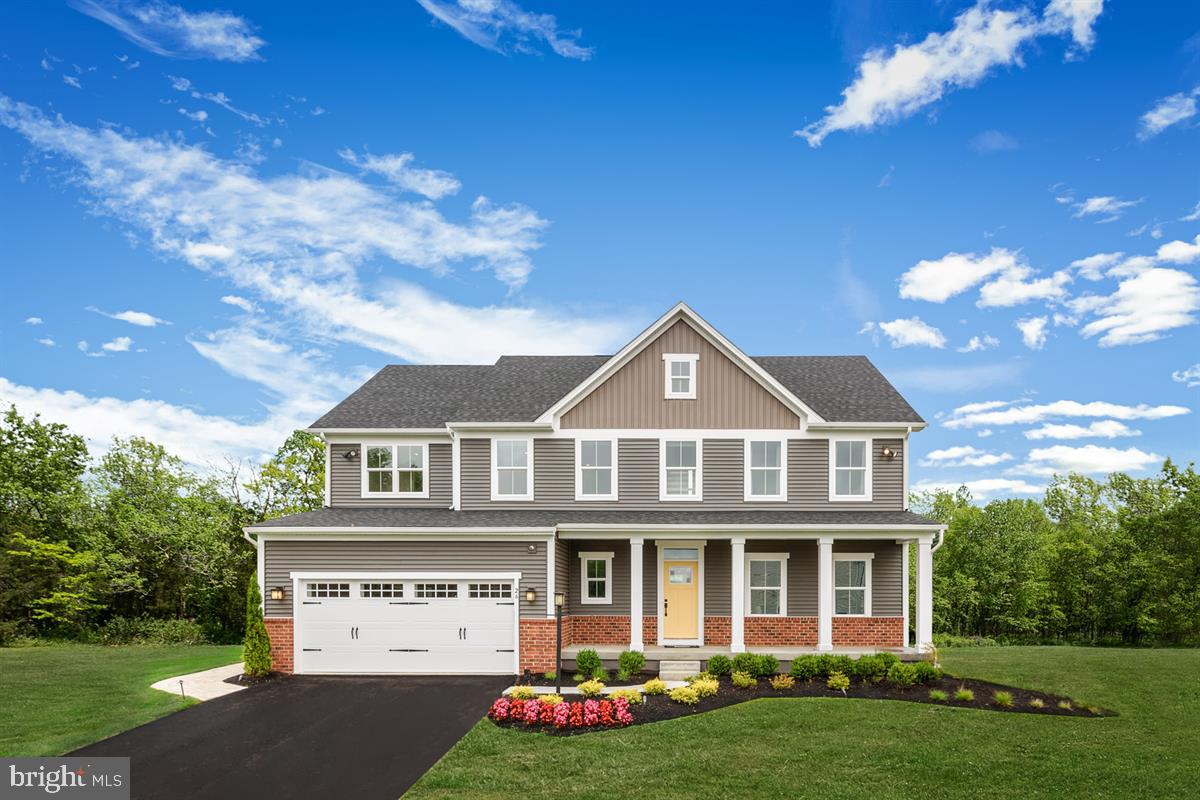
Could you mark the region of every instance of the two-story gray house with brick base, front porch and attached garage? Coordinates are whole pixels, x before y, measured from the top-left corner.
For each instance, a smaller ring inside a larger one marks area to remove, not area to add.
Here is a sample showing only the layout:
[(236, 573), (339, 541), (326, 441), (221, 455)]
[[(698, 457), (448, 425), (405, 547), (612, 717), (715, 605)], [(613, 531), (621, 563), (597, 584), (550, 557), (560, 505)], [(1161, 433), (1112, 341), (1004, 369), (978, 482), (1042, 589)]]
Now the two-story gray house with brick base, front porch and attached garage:
[(311, 428), (325, 507), (246, 529), (275, 667), (551, 669), (556, 594), (568, 656), (926, 649), (924, 427), (865, 357), (751, 357), (683, 303), (611, 356), (385, 367)]

